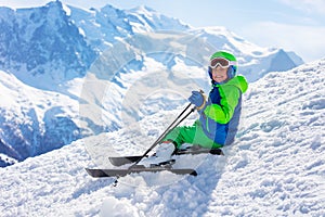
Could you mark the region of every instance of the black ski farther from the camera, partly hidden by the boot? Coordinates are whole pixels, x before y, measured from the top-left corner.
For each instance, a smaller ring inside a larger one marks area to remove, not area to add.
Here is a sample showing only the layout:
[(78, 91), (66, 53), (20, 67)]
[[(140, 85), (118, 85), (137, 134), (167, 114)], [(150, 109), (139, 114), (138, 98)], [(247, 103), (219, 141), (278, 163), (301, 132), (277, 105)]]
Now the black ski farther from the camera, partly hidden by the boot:
[[(224, 155), (221, 149), (205, 149), (200, 146), (190, 146), (187, 149), (178, 150), (176, 153), (176, 155), (183, 155), (183, 154)], [(134, 156), (113, 156), (108, 158), (114, 166), (122, 166), (126, 164), (134, 163), (141, 157), (142, 157), (141, 155), (134, 155)]]

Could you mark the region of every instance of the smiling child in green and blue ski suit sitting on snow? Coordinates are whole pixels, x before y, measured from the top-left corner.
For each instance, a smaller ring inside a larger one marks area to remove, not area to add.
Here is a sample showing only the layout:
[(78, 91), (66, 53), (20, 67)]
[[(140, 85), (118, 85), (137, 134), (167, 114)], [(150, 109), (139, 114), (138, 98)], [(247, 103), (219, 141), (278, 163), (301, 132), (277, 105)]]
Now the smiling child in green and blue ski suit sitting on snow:
[(209, 98), (199, 91), (192, 91), (188, 101), (199, 113), (193, 126), (174, 128), (162, 140), (156, 151), (154, 162), (166, 162), (183, 143), (203, 148), (221, 148), (234, 142), (239, 124), (242, 94), (248, 84), (244, 76), (237, 76), (237, 60), (225, 51), (210, 56), (208, 74), (212, 88)]

